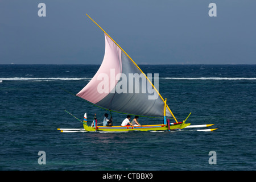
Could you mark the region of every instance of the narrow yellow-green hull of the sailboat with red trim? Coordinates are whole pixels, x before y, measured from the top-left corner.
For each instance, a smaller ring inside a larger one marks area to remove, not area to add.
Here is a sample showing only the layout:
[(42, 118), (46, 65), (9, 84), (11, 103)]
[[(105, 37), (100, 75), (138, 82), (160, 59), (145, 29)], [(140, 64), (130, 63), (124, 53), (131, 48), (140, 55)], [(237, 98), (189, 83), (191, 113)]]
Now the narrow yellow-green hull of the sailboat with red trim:
[[(174, 129), (183, 129), (184, 127), (189, 126), (190, 123), (172, 123), (170, 125), (170, 130)], [(142, 125), (142, 126), (97, 126), (97, 129), (95, 127), (90, 127), (86, 124), (84, 124), (84, 129), (86, 131), (164, 131), (168, 130), (168, 125)]]

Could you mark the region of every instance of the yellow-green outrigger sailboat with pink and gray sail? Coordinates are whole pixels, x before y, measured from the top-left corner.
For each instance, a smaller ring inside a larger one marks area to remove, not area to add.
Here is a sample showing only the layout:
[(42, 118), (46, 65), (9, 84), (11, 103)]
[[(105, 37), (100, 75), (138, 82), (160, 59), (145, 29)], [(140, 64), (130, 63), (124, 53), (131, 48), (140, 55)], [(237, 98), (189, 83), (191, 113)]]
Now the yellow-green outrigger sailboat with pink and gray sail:
[[(88, 14), (86, 15), (90, 18)], [(92, 18), (90, 19), (94, 22)], [(97, 26), (100, 27), (98, 24)], [(85, 131), (171, 131), (181, 130), (189, 126), (190, 123), (185, 123), (185, 121), (191, 113), (184, 121), (178, 122), (167, 105), (167, 99), (164, 100), (158, 89), (152, 84), (152, 78), (147, 77), (131, 57), (102, 28), (101, 30), (105, 35), (104, 59), (96, 75), (76, 96), (110, 112), (117, 111), (129, 115), (160, 117), (163, 119), (163, 124), (134, 127), (99, 126), (95, 114), (93, 125), (88, 126), (87, 114), (85, 113), (82, 122)], [(130, 74), (137, 76), (138, 81), (129, 84), (125, 82), (124, 78), (128, 78)], [(146, 80), (146, 85), (142, 84), (143, 79)], [(150, 89), (144, 89), (145, 86)], [(130, 91), (129, 93), (122, 90), (125, 87), (126, 90)], [(174, 119), (174, 122), (170, 122), (170, 119)], [(121, 122), (119, 123), (121, 124)]]

